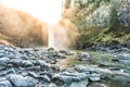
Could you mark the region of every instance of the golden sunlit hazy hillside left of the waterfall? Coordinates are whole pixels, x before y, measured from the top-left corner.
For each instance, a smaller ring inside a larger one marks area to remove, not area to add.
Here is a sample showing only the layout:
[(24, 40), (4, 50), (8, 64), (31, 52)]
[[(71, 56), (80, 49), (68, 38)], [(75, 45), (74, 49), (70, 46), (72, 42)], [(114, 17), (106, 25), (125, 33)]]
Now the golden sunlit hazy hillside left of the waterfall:
[(0, 34), (10, 38), (3, 40), (15, 46), (47, 45), (46, 26), (46, 23), (39, 22), (26, 12), (0, 5)]

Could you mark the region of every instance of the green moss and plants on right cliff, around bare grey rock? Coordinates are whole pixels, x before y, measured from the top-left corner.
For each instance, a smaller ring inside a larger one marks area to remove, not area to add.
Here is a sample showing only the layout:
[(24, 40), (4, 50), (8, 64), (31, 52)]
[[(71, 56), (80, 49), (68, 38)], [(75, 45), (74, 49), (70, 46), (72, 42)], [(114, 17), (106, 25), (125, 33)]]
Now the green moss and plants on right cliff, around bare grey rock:
[[(117, 1), (117, 0), (116, 0)], [(130, 44), (130, 26), (123, 26), (118, 21), (118, 10), (121, 3), (115, 0), (89, 0), (88, 5), (80, 5), (76, 11), (72, 11), (68, 17), (77, 27), (79, 36), (76, 39), (75, 47), (86, 49), (95, 44), (112, 44), (116, 40), (119, 44)], [(86, 17), (102, 5), (110, 4), (109, 24), (103, 27), (88, 27)]]

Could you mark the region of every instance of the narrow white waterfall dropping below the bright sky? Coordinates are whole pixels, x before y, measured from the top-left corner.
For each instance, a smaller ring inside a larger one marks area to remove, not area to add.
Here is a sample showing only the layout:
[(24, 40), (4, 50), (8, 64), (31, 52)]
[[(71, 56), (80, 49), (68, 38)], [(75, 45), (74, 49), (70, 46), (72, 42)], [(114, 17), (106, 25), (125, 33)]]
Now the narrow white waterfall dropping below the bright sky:
[(50, 24), (48, 29), (49, 29), (48, 47), (54, 48), (54, 26)]

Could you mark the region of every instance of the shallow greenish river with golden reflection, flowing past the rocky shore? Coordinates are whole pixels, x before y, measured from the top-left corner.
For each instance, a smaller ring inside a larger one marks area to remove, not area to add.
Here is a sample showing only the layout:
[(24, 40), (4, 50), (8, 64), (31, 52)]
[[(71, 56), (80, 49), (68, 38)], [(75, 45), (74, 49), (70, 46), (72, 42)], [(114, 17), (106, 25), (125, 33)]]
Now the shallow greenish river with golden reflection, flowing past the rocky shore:
[[(89, 83), (88, 87), (130, 87), (130, 74), (123, 72), (126, 67), (123, 65), (120, 65), (118, 62), (112, 61), (112, 59), (116, 57), (116, 53), (86, 51), (90, 54), (91, 60), (78, 61), (76, 59), (76, 53), (82, 51), (73, 52), (74, 55), (69, 55), (67, 59), (63, 59), (60, 62), (57, 62), (57, 65), (61, 70), (64, 70), (66, 67), (73, 69), (76, 65), (83, 65), (96, 70), (102, 75), (106, 76), (100, 82)], [(99, 66), (98, 62), (100, 61), (106, 64), (106, 66)]]

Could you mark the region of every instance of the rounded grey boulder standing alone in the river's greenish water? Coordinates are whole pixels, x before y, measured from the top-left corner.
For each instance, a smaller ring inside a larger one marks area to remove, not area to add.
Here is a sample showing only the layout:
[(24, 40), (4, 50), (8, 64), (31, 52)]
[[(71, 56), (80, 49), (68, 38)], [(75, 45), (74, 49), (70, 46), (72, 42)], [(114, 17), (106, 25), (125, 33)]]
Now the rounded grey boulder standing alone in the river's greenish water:
[(79, 53), (77, 53), (77, 60), (79, 60), (79, 61), (87, 61), (87, 60), (90, 60), (90, 55), (89, 55), (89, 53), (87, 53), (87, 52), (79, 52)]

